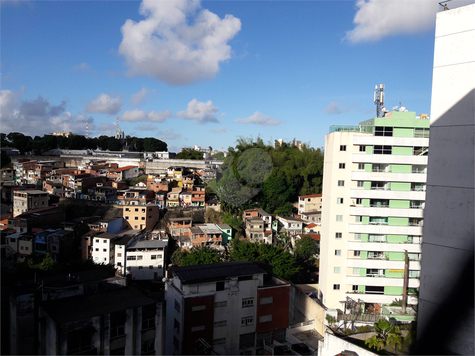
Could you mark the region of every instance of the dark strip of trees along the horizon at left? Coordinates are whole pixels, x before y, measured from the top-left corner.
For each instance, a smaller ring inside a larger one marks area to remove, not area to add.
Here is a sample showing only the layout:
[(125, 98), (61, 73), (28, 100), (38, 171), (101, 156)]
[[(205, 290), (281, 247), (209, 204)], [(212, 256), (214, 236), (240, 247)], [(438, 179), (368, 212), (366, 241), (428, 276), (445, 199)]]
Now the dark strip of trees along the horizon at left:
[(44, 135), (32, 138), (20, 132), (10, 132), (8, 135), (1, 133), (0, 139), (2, 147), (16, 148), (21, 154), (26, 152), (41, 154), (55, 148), (71, 150), (99, 148), (104, 151), (120, 151), (123, 148), (128, 148), (130, 151), (136, 152), (167, 151), (167, 144), (153, 137), (127, 136), (124, 140), (118, 140), (105, 135), (94, 138), (86, 138), (82, 135), (70, 135), (69, 137)]

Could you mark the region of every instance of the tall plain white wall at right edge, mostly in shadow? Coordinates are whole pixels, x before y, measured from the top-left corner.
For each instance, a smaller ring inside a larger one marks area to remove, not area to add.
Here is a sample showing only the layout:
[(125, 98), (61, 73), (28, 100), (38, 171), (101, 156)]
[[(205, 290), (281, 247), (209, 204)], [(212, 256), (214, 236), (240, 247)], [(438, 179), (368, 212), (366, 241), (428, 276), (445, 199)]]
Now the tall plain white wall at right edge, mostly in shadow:
[[(437, 347), (433, 352), (474, 354), (474, 44), (475, 5), (437, 14), (417, 326), (420, 354), (431, 354), (427, 346), (438, 335), (433, 331), (443, 330), (447, 320), (453, 323), (451, 335), (441, 334), (445, 342), (432, 343)], [(460, 300), (467, 295), (468, 304)]]

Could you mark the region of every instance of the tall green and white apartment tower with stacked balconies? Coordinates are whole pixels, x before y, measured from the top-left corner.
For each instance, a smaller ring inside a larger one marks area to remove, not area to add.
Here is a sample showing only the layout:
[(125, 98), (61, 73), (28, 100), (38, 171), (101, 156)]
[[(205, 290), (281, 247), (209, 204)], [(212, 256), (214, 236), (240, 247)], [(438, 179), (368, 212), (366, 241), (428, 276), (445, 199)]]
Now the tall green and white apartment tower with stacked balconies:
[[(419, 287), (429, 148), (427, 115), (393, 111), (325, 137), (319, 296), (378, 311)], [(416, 302), (409, 298), (409, 302)], [(378, 305), (376, 305), (378, 304)]]

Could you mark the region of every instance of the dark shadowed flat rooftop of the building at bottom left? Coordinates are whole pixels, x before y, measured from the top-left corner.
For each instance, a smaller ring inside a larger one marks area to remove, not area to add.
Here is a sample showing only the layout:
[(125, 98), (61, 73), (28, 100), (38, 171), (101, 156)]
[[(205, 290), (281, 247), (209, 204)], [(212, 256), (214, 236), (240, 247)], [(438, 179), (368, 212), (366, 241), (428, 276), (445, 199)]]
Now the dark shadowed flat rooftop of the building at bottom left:
[(157, 303), (134, 287), (123, 287), (111, 291), (50, 300), (43, 303), (46, 313), (58, 324), (90, 319), (94, 316), (114, 313)]

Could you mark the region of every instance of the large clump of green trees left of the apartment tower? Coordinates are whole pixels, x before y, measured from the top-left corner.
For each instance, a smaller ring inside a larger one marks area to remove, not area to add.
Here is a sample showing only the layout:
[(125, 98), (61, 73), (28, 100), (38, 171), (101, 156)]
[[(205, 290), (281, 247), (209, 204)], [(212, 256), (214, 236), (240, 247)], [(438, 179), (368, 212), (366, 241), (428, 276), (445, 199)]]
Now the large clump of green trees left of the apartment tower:
[(211, 183), (224, 212), (242, 215), (248, 208), (289, 215), (299, 195), (321, 192), (323, 151), (294, 143), (274, 148), (256, 140), (239, 138), (228, 149), (221, 173)]

